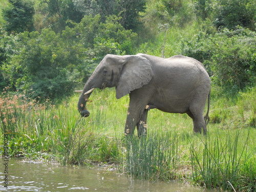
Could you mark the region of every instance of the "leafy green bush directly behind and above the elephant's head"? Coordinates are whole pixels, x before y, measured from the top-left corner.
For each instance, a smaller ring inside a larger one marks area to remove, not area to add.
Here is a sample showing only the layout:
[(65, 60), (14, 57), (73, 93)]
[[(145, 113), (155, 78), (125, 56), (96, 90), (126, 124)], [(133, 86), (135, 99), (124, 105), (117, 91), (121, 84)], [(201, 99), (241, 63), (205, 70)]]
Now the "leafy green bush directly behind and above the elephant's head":
[(106, 17), (105, 23), (101, 23), (100, 15), (84, 16), (79, 24), (73, 23), (74, 28), (69, 28), (79, 36), (77, 45), (86, 48), (84, 60), (77, 68), (79, 81), (86, 81), (106, 54), (135, 53), (137, 34), (132, 30), (125, 30), (119, 23), (120, 19), (121, 17), (111, 15)]

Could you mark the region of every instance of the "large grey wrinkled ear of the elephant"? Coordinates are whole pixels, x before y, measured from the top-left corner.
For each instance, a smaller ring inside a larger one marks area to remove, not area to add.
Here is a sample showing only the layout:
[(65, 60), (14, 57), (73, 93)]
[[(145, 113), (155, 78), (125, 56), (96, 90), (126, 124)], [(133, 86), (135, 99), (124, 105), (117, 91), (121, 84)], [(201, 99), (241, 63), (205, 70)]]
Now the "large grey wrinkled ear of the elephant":
[(151, 62), (146, 58), (139, 55), (127, 55), (124, 58), (125, 63), (116, 87), (117, 99), (141, 88), (153, 76)]

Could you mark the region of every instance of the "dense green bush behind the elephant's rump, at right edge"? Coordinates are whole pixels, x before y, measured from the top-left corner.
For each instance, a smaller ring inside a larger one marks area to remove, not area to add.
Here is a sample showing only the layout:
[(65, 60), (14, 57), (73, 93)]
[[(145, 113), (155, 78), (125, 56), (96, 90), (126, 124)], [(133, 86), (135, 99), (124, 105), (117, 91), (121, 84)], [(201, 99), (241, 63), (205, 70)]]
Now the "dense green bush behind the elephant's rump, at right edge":
[(215, 35), (200, 32), (183, 42), (182, 54), (201, 61), (215, 84), (237, 92), (255, 85), (255, 37), (255, 32), (243, 28), (223, 29)]

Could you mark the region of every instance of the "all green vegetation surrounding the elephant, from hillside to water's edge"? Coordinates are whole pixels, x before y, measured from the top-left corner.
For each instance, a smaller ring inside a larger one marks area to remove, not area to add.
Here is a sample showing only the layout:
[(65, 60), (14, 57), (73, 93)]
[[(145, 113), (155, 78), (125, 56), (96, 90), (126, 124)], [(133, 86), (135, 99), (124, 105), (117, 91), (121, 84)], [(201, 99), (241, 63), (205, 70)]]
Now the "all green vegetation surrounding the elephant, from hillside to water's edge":
[[(107, 2), (0, 2), (0, 128), (9, 155), (114, 163), (136, 179), (255, 191), (254, 1)], [(137, 53), (203, 63), (212, 81), (206, 137), (193, 134), (187, 115), (157, 110), (146, 138), (124, 137), (129, 97), (116, 100), (111, 89), (94, 92), (91, 116), (80, 118), (73, 90), (106, 54)]]

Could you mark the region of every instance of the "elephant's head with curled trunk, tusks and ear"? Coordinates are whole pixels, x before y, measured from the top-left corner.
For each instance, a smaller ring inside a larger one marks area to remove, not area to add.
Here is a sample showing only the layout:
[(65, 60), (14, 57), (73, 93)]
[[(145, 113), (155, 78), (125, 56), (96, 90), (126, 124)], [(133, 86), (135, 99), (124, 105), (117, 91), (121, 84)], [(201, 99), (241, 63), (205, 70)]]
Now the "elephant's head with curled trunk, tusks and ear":
[(86, 102), (95, 88), (116, 87), (119, 99), (147, 84), (153, 76), (150, 61), (139, 55), (106, 55), (86, 82), (77, 104), (81, 116), (88, 117)]

